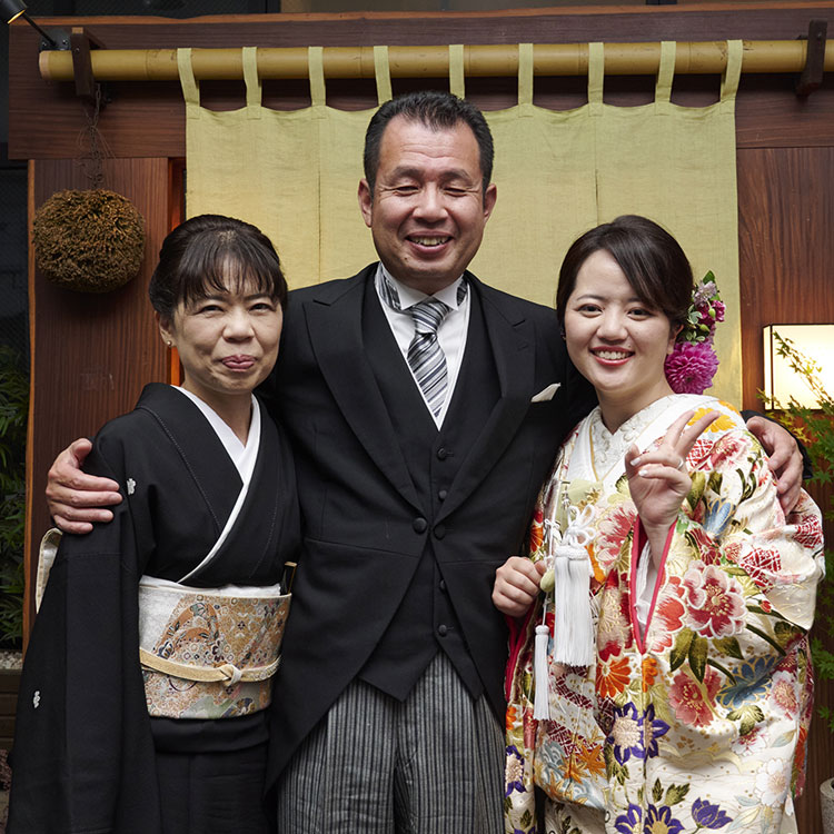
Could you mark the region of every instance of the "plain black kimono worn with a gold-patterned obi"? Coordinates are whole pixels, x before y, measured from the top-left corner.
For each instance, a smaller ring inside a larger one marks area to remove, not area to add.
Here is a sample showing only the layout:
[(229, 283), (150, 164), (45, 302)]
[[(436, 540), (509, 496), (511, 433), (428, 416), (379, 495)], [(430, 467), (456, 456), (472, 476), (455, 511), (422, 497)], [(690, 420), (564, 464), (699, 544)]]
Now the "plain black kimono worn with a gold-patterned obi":
[[(241, 478), (200, 409), (165, 385), (147, 386), (133, 411), (99, 431), (85, 468), (118, 481), (123, 500), (111, 524), (64, 536), (52, 567), (21, 679), (8, 830), (182, 834), (165, 805), (191, 787), (170, 784), (179, 780), (171, 755), (205, 759), (239, 751), (246, 758), (247, 751), (266, 748), (267, 714), (149, 717), (138, 655), (138, 583), (142, 575), (178, 582), (202, 562)], [(290, 449), (262, 410), (239, 516), (188, 585), (274, 585), (298, 543)], [(256, 782), (248, 795), (259, 802), (262, 767), (245, 778)], [(230, 780), (202, 780), (198, 787), (207, 795), (237, 793), (234, 773)], [(239, 830), (254, 828), (244, 823)]]

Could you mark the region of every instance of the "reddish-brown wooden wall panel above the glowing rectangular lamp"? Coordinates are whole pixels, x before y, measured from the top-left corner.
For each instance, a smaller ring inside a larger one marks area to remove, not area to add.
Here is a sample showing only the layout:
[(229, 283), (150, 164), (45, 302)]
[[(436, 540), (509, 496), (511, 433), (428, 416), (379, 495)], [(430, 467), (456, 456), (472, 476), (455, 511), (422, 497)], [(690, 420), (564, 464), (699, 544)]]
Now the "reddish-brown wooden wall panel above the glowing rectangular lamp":
[(759, 407), (762, 328), (834, 322), (834, 147), (738, 151), (744, 405)]

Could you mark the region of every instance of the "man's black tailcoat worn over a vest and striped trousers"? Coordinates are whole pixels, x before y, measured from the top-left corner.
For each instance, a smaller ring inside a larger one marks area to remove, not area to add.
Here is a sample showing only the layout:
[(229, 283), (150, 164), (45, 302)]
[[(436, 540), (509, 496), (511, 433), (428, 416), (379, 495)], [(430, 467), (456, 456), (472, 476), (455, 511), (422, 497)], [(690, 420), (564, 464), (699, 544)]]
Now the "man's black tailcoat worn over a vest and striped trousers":
[[(554, 311), (470, 275), (500, 398), (433, 515), (364, 350), (361, 310), (375, 271), (376, 264), (294, 291), (285, 318), (274, 397), (294, 445), (304, 544), (274, 694), (270, 782), (367, 662), (429, 536), (471, 658), (503, 715), (507, 632), (490, 598), (495, 569), (518, 553), (556, 449), (594, 401)], [(530, 403), (553, 383), (560, 385), (553, 399)]]

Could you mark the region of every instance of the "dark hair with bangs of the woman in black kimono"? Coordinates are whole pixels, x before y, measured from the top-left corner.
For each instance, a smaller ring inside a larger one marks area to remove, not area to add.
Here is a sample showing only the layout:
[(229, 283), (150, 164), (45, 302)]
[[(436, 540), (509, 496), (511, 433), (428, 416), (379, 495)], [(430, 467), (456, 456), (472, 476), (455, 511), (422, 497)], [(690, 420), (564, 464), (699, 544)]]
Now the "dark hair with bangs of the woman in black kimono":
[(287, 281), (269, 238), (234, 217), (198, 215), (162, 241), (148, 295), (153, 309), (170, 321), (180, 302), (237, 291), (247, 282), (286, 307)]

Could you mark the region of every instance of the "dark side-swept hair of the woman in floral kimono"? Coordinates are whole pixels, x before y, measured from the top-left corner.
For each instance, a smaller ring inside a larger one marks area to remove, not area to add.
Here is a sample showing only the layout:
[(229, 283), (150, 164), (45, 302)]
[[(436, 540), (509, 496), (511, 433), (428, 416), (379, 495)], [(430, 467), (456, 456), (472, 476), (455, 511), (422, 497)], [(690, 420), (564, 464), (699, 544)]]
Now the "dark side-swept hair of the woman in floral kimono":
[(597, 226), (567, 250), (556, 291), (556, 312), (563, 325), (576, 276), (582, 265), (600, 249), (617, 261), (637, 298), (668, 318), (673, 331), (684, 325), (692, 304), (689, 261), (666, 229), (638, 215), (622, 215), (609, 224)]

